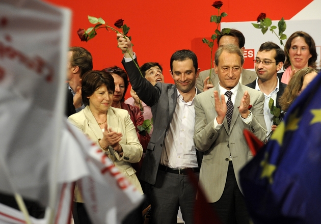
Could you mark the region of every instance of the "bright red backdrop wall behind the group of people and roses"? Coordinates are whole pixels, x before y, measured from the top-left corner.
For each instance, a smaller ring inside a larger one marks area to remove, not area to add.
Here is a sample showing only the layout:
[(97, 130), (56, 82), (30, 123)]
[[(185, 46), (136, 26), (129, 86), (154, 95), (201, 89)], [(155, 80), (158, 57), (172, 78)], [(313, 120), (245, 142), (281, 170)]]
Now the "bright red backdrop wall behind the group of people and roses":
[[(70, 46), (82, 46), (88, 49), (93, 55), (94, 69), (121, 66), (122, 54), (116, 47), (114, 32), (99, 30), (98, 35), (89, 42), (79, 40), (77, 30), (91, 26), (87, 15), (102, 17), (112, 26), (117, 19), (124, 19), (130, 26), (128, 35), (132, 37), (139, 63), (159, 62), (164, 68), (165, 82), (173, 83), (168, 71), (170, 57), (176, 50), (191, 49), (198, 57), (201, 70), (210, 67), (209, 47), (201, 40), (204, 37), (209, 39), (216, 29), (216, 24), (209, 22), (210, 16), (217, 14), (217, 9), (211, 6), (213, 0), (46, 0), (46, 2), (72, 10)], [(312, 0), (293, 0), (289, 6), (287, 1), (279, 0), (271, 0), (266, 4), (254, 0), (223, 1), (221, 12), (226, 12), (228, 16), (224, 17), (222, 22), (255, 21), (261, 12), (266, 13), (272, 20), (279, 20), (281, 17), (290, 19), (311, 2)]]

